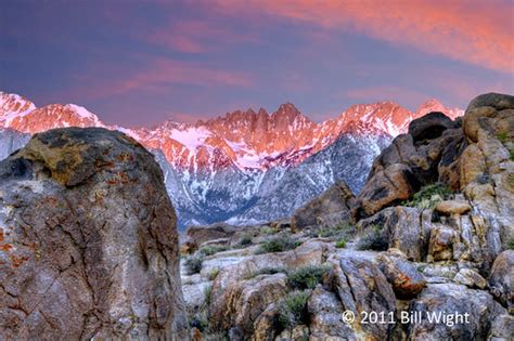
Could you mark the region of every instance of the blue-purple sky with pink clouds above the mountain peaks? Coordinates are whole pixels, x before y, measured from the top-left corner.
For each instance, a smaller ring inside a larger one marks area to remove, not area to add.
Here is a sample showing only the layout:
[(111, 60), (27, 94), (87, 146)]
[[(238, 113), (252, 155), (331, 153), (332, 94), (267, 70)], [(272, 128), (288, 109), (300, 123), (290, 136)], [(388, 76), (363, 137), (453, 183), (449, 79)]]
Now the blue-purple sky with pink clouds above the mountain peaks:
[(514, 93), (510, 0), (0, 0), (0, 91), (106, 123)]

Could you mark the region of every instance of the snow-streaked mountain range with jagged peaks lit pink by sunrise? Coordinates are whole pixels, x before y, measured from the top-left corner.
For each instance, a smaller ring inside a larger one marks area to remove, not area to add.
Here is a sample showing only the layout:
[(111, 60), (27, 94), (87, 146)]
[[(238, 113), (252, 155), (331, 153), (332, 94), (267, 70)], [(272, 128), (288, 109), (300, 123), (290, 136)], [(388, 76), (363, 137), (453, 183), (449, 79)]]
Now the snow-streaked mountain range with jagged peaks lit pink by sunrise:
[(321, 123), (293, 104), (274, 113), (236, 110), (195, 123), (165, 121), (152, 129), (107, 126), (75, 104), (37, 107), (0, 92), (0, 159), (34, 133), (61, 127), (104, 127), (152, 150), (165, 174), (179, 226), (228, 221), (256, 223), (295, 208), (344, 180), (359, 192), (381, 149), (431, 112), (463, 115), (437, 100), (410, 112), (394, 102), (359, 104)]

